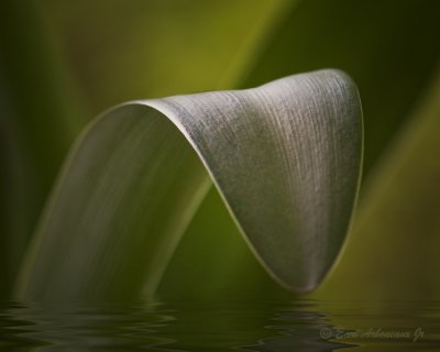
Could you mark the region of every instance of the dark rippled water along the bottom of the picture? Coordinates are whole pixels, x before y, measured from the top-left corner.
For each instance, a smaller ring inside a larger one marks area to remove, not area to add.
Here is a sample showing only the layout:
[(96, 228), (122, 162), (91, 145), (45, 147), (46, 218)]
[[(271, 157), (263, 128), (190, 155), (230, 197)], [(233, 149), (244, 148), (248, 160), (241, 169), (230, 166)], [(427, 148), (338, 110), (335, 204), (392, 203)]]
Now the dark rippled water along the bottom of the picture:
[(0, 351), (440, 351), (440, 301), (0, 308)]

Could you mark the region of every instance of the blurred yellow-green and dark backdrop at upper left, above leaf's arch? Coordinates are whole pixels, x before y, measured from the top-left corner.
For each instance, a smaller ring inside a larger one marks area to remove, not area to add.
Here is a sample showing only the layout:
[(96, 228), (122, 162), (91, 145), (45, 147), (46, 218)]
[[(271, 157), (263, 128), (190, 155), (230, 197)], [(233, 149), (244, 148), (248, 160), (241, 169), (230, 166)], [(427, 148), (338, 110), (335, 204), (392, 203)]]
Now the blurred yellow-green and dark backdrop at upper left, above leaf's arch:
[(235, 88), (293, 3), (1, 1), (0, 297), (85, 123), (129, 99)]

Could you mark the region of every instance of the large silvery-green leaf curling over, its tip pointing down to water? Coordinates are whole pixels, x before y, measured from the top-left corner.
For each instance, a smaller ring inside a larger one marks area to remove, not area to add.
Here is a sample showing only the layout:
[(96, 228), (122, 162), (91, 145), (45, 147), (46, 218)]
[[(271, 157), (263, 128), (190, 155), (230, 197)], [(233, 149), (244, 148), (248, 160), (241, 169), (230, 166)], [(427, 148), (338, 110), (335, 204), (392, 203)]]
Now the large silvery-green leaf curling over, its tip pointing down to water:
[(18, 295), (153, 294), (208, 174), (268, 273), (293, 292), (314, 289), (349, 227), (361, 116), (354, 84), (338, 70), (111, 110), (77, 142)]

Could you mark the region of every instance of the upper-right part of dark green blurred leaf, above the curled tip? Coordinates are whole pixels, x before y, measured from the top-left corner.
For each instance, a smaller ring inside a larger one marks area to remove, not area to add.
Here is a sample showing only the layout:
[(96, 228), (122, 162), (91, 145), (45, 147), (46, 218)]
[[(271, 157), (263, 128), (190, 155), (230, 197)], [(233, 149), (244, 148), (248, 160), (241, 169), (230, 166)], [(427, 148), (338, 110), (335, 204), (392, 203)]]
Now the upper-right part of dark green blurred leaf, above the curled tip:
[(366, 175), (429, 86), (439, 32), (436, 1), (300, 1), (245, 85), (328, 66), (346, 72), (362, 92)]

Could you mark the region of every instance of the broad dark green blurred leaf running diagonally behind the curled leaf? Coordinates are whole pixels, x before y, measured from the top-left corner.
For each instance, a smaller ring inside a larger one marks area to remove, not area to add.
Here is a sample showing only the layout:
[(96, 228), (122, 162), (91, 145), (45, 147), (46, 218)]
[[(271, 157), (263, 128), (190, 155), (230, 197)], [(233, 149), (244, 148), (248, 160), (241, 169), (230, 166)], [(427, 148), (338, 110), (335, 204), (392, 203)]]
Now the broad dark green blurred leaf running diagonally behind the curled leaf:
[[(254, 65), (248, 66), (248, 78), (239, 88), (320, 67), (343, 69), (362, 92), (365, 127), (363, 170), (364, 175), (370, 170), (374, 173), (377, 160), (388, 143), (398, 136), (403, 121), (424, 96), (436, 69), (440, 57), (440, 45), (437, 45), (439, 6), (440, 2), (428, 4), (411, 0), (398, 4), (394, 0), (381, 1), (381, 4), (372, 1), (354, 4), (350, 0), (298, 1), (293, 11), (285, 12), (285, 21), (273, 31), (272, 38), (261, 46)], [(383, 220), (386, 221), (385, 217), (375, 219)], [(366, 224), (364, 233), (366, 239), (371, 239), (371, 221)], [(206, 232), (210, 233), (210, 241), (204, 239)], [(266, 298), (270, 293), (279, 292), (265, 280), (264, 273), (258, 271), (241, 242), (232, 221), (228, 221), (221, 200), (213, 190), (210, 191), (173, 255), (161, 283), (162, 297), (168, 294), (180, 297), (190, 292), (191, 284), (187, 283), (193, 282), (205, 288), (202, 293), (197, 292), (198, 297), (221, 297), (231, 292), (254, 295), (260, 292)], [(200, 252), (197, 252), (200, 246), (213, 254), (195, 255)], [(228, 263), (222, 263), (222, 257), (215, 253), (220, 248), (229, 251), (231, 258)], [(388, 253), (386, 246), (383, 250)], [(356, 252), (352, 257), (353, 262), (344, 261), (343, 266), (358, 267), (358, 261), (371, 264), (370, 251), (363, 251), (362, 255)], [(207, 264), (208, 260), (210, 264)], [(358, 277), (346, 283), (359, 288), (365, 279)], [(338, 287), (339, 280), (334, 285), (336, 292)], [(349, 289), (349, 285), (344, 287)]]

